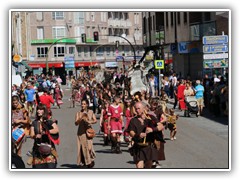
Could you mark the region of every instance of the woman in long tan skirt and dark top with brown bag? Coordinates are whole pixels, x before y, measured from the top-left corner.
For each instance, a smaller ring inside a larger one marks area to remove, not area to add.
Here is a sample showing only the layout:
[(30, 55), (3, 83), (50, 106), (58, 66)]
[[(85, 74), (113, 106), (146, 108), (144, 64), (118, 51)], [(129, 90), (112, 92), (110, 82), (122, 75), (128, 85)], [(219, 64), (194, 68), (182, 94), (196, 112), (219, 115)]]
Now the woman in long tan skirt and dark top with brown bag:
[(75, 125), (77, 131), (77, 165), (81, 167), (92, 168), (95, 165), (96, 154), (93, 149), (93, 140), (87, 137), (87, 129), (92, 124), (97, 123), (96, 116), (92, 110), (88, 109), (89, 102), (87, 99), (81, 101), (82, 109), (76, 113)]

